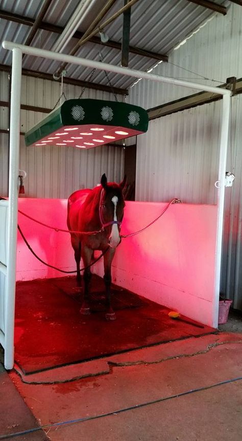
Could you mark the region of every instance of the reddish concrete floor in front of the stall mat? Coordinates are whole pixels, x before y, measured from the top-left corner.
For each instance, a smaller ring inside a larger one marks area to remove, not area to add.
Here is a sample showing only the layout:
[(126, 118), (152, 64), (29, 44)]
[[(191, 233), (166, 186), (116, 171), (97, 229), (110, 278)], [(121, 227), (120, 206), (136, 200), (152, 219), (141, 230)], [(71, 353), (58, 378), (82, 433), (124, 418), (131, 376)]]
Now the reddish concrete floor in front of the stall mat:
[[(240, 441), (241, 343), (242, 333), (220, 331), (88, 366), (23, 378), (12, 371), (8, 377), (52, 441)], [(8, 397), (6, 392), (7, 403)], [(5, 406), (3, 400), (0, 403), (2, 416)], [(11, 405), (13, 415), (15, 402)], [(23, 420), (7, 429), (2, 422), (1, 434), (22, 430), (22, 425)], [(26, 427), (34, 424), (28, 421)], [(44, 439), (40, 435), (41, 430), (16, 439)]]

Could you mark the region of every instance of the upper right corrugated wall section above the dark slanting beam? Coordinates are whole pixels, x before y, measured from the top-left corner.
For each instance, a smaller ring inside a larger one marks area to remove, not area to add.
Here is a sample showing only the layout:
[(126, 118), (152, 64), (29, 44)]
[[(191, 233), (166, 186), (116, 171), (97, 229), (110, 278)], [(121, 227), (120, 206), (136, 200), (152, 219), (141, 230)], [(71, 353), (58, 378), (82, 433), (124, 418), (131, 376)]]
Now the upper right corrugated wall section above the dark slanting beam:
[[(214, 15), (185, 44), (170, 53), (168, 63), (161, 62), (152, 73), (210, 86), (219, 86), (230, 76), (240, 78), (241, 33), (242, 8), (233, 4), (226, 16)], [(202, 76), (210, 80), (205, 80)], [(130, 89), (129, 101), (149, 109), (197, 92), (184, 87), (141, 80)]]

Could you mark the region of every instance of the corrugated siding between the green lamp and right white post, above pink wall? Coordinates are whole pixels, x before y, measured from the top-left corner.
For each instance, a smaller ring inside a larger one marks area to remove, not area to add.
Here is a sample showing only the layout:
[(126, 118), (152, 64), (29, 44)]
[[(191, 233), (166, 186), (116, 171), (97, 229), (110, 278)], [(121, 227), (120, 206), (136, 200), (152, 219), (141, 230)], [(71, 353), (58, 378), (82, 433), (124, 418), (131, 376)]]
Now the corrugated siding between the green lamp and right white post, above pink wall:
[(216, 202), (220, 104), (150, 121), (147, 134), (137, 137), (137, 200)]

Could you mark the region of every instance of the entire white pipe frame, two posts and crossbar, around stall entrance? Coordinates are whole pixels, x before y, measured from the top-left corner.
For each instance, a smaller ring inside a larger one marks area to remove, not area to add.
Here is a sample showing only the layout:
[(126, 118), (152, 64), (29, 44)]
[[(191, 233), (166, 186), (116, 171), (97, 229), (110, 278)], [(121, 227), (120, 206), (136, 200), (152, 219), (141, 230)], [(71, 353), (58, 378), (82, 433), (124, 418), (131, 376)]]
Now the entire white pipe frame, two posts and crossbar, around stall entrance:
[[(213, 302), (213, 327), (217, 327), (219, 295), (220, 295), (220, 274), (221, 274), (221, 253), (223, 238), (223, 214), (224, 214), (224, 196), (225, 196), (225, 172), (228, 146), (229, 132), (229, 113), (230, 113), (230, 96), (231, 92), (227, 89), (215, 88), (212, 86), (204, 86), (199, 83), (168, 78), (161, 75), (155, 75), (149, 72), (142, 72), (135, 69), (128, 69), (119, 66), (109, 65), (107, 63), (88, 60), (85, 58), (77, 58), (72, 55), (65, 55), (56, 52), (46, 51), (30, 46), (18, 45), (11, 41), (3, 41), (3, 48), (13, 51), (13, 68), (12, 68), (12, 90), (11, 90), (11, 111), (10, 111), (10, 173), (9, 173), (9, 228), (8, 228), (8, 306), (6, 309), (6, 317), (8, 323), (11, 324), (12, 330), (8, 330), (6, 335), (5, 347), (5, 367), (11, 369), (13, 367), (13, 321), (14, 321), (14, 301), (15, 301), (15, 274), (16, 274), (16, 240), (17, 240), (17, 206), (18, 206), (18, 167), (19, 167), (19, 133), (20, 133), (20, 87), (21, 87), (21, 56), (22, 53), (33, 55), (41, 58), (49, 58), (68, 64), (75, 64), (106, 70), (117, 74), (127, 75), (135, 78), (148, 79), (158, 82), (182, 86), (189, 89), (196, 89), (205, 92), (220, 94), (223, 96), (223, 115), (221, 124), (221, 140), (220, 140), (220, 165), (219, 177), (220, 186), (217, 193), (217, 230), (216, 230), (216, 251), (215, 251), (215, 277), (214, 277), (214, 302)], [(14, 103), (14, 105), (13, 105)], [(9, 317), (8, 317), (9, 315)], [(12, 345), (12, 354), (9, 353), (7, 343)]]

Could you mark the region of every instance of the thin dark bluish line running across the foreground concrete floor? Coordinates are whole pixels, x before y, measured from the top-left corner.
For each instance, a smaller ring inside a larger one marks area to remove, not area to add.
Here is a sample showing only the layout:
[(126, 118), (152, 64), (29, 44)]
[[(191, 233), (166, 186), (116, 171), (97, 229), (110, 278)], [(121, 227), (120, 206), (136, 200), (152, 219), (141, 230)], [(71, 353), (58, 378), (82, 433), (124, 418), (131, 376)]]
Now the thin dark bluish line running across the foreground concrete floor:
[(214, 383), (214, 384), (211, 384), (209, 386), (203, 386), (203, 387), (199, 387), (197, 389), (187, 390), (185, 392), (181, 392), (181, 393), (178, 393), (178, 394), (175, 394), (175, 395), (165, 396), (165, 397), (162, 397), (162, 398), (158, 398), (157, 400), (152, 400), (152, 401), (147, 401), (147, 402), (144, 402), (144, 403), (139, 403), (139, 404), (136, 404), (135, 406), (124, 407), (122, 409), (117, 409), (117, 410), (112, 411), (112, 412), (101, 413), (99, 415), (85, 416), (83, 418), (69, 419), (67, 421), (61, 421), (60, 423), (46, 424), (44, 426), (34, 427), (32, 429), (23, 430), (21, 432), (9, 433), (7, 435), (0, 435), (0, 439), (10, 439), (10, 438), (14, 438), (16, 436), (27, 435), (28, 433), (37, 432), (37, 430), (43, 430), (43, 429), (52, 428), (52, 427), (58, 427), (58, 426), (65, 426), (67, 424), (84, 423), (85, 421), (90, 421), (90, 420), (93, 420), (93, 419), (104, 418), (106, 416), (112, 416), (112, 415), (118, 415), (119, 413), (128, 412), (130, 410), (135, 410), (135, 409), (140, 409), (141, 407), (146, 407), (146, 406), (150, 406), (152, 404), (161, 403), (163, 401), (172, 400), (172, 398), (179, 398), (180, 396), (188, 395), (190, 393), (195, 393), (195, 392), (201, 392), (203, 390), (211, 389), (211, 388), (216, 387), (216, 386), (222, 386), (222, 385), (228, 384), (228, 383), (233, 383), (233, 382), (239, 381), (239, 380), (242, 380), (242, 376), (237, 377), (237, 378), (233, 378), (233, 379), (230, 379), (230, 380), (225, 380), (225, 381), (222, 381), (222, 382), (219, 382), (219, 383)]

